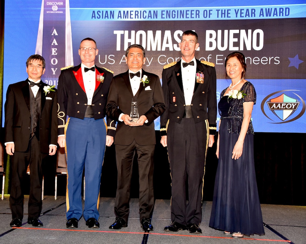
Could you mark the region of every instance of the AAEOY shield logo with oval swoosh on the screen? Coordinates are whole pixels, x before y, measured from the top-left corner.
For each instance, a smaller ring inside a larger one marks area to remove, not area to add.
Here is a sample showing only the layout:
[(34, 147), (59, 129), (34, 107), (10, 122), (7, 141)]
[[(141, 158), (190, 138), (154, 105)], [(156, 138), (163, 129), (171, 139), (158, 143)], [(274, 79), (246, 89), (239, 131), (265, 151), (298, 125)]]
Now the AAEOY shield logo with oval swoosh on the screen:
[[(273, 116), (274, 118), (278, 118), (282, 120), (282, 122), (274, 122), (273, 124), (289, 123), (294, 120), (297, 120), (304, 114), (305, 109), (306, 109), (305, 102), (298, 94), (294, 93), (294, 91), (299, 91), (299, 90), (276, 91), (276, 92), (269, 94), (261, 102), (261, 105), (260, 105), (261, 111), (267, 118), (274, 121), (264, 111), (265, 104), (267, 104), (269, 111), (271, 111), (270, 113), (271, 116), (274, 114)], [(295, 112), (297, 111), (300, 105), (302, 105), (302, 109), (300, 113), (296, 114)]]

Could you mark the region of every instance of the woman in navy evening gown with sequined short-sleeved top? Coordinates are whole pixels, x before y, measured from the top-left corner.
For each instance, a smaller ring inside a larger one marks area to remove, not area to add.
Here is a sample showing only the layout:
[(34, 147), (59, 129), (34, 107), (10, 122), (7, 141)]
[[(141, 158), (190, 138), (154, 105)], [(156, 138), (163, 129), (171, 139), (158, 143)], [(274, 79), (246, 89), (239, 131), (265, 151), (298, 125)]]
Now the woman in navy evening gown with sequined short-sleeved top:
[(220, 94), (218, 168), (209, 226), (233, 238), (264, 235), (254, 167), (251, 121), (256, 91), (244, 79), (244, 55), (226, 57), (226, 74), (232, 80)]

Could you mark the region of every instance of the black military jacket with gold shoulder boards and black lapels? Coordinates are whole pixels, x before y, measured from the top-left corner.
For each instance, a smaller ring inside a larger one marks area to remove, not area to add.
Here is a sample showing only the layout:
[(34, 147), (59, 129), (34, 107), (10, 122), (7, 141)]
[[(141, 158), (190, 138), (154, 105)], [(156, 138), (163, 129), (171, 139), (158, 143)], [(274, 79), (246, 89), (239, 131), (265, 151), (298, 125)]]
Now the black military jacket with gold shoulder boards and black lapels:
[[(202, 63), (203, 62), (203, 63)], [(204, 74), (204, 82), (195, 80), (191, 109), (195, 123), (208, 119), (209, 132), (215, 135), (217, 119), (216, 70), (215, 65), (196, 59), (196, 72)], [(168, 120), (181, 123), (185, 112), (185, 97), (181, 75), (181, 61), (165, 65), (162, 71), (162, 90), (166, 110), (160, 119), (161, 135), (166, 135)]]

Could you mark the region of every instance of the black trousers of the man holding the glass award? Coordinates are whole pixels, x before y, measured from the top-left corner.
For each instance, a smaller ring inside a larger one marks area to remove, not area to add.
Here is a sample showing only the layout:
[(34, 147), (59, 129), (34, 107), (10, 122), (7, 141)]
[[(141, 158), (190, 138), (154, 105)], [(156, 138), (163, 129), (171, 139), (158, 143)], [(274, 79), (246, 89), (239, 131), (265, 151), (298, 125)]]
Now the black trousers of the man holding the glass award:
[(129, 146), (115, 145), (115, 147), (118, 170), (115, 215), (128, 223), (132, 165), (134, 155), (137, 155), (140, 220), (150, 218), (154, 207), (153, 155), (155, 145), (141, 146), (134, 140)]

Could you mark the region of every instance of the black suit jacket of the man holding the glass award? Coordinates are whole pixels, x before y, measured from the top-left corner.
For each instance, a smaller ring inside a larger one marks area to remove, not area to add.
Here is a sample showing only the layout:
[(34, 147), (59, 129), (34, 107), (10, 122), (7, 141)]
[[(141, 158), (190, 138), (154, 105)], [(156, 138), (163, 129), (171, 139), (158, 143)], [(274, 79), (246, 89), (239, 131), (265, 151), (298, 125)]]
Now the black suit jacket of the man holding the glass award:
[[(136, 93), (139, 116), (145, 115), (148, 123), (143, 126), (130, 127), (124, 122), (118, 122), (115, 144), (129, 145), (135, 139), (139, 145), (156, 144), (154, 120), (165, 110), (164, 98), (160, 79), (157, 75), (142, 70), (142, 76), (148, 76), (149, 83), (140, 83)], [(129, 72), (114, 77), (110, 84), (110, 92), (107, 99), (107, 114), (118, 121), (121, 113), (131, 113), (133, 92), (129, 80)]]

